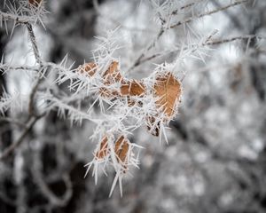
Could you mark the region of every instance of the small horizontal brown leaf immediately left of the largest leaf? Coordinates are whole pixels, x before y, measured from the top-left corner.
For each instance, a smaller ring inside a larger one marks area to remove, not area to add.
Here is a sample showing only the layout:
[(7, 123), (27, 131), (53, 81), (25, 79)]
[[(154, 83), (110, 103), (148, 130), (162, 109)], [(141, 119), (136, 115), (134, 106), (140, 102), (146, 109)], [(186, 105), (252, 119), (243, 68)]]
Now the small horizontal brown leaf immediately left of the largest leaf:
[(122, 96), (143, 96), (145, 95), (145, 85), (137, 80), (128, 81), (121, 84)]

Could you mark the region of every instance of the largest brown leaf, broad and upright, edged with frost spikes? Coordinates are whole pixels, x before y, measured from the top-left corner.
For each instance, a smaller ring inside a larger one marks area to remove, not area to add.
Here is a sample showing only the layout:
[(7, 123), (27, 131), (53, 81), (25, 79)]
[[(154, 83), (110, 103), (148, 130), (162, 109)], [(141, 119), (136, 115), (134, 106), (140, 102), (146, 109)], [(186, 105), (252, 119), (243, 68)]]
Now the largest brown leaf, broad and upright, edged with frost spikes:
[(159, 98), (156, 101), (158, 108), (162, 108), (164, 114), (169, 118), (175, 113), (177, 101), (182, 92), (181, 83), (171, 73), (158, 76), (153, 86), (154, 95)]

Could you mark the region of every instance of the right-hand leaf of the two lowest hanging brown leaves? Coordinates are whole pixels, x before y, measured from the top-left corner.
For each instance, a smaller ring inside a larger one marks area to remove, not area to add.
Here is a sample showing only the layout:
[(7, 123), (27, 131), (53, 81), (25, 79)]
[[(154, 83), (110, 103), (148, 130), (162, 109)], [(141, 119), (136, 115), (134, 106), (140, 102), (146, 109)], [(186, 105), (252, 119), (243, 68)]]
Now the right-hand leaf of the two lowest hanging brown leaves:
[(129, 140), (124, 136), (118, 138), (115, 142), (114, 152), (119, 162), (126, 162), (129, 152)]

